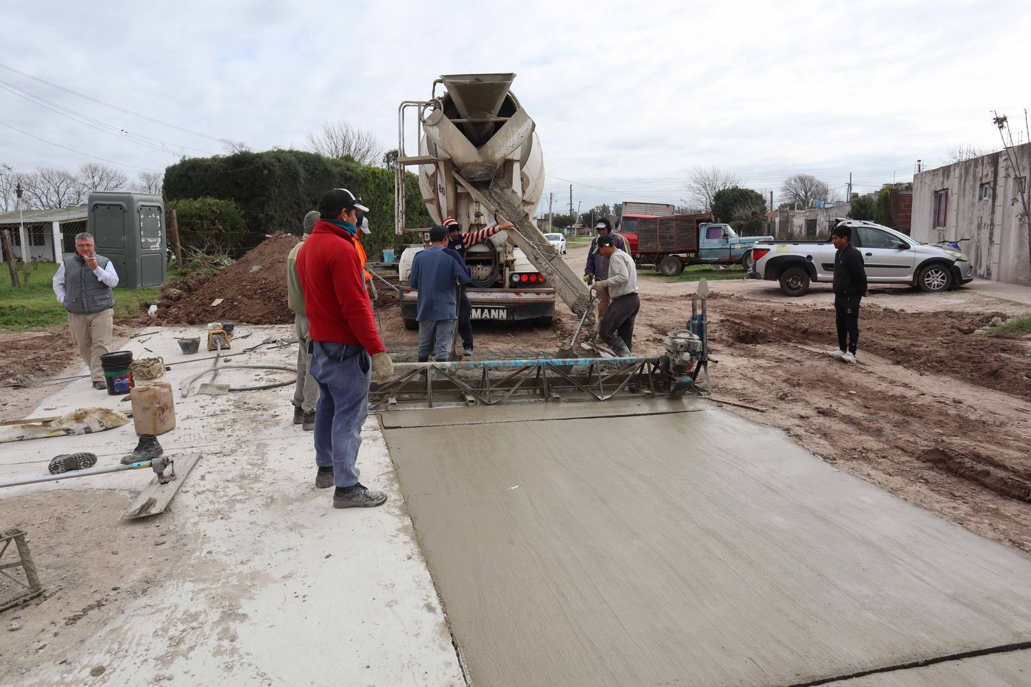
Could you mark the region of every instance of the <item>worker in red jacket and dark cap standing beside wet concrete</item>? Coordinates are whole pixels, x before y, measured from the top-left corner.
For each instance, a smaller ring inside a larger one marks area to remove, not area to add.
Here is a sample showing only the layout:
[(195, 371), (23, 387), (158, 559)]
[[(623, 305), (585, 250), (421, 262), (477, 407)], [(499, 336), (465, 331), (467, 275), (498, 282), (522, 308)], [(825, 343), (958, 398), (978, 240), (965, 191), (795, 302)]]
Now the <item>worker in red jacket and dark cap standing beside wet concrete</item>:
[(319, 201), (311, 235), (297, 253), (311, 346), (315, 407), (315, 486), (336, 486), (334, 508), (369, 508), (387, 501), (358, 481), (358, 448), (368, 416), (370, 371), (384, 384), (394, 373), (372, 318), (362, 265), (355, 248), (362, 199), (333, 188)]

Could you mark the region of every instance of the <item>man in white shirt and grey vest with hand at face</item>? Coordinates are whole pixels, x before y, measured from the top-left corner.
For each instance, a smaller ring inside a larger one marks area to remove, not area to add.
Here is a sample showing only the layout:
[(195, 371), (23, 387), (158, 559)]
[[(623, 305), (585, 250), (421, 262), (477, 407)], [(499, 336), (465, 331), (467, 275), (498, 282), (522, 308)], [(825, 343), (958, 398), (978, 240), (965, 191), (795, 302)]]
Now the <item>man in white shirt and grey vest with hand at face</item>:
[(95, 252), (93, 236), (75, 235), (75, 254), (65, 257), (54, 275), (58, 303), (68, 311), (68, 329), (78, 354), (90, 368), (93, 388), (106, 389), (100, 356), (114, 349), (114, 264)]

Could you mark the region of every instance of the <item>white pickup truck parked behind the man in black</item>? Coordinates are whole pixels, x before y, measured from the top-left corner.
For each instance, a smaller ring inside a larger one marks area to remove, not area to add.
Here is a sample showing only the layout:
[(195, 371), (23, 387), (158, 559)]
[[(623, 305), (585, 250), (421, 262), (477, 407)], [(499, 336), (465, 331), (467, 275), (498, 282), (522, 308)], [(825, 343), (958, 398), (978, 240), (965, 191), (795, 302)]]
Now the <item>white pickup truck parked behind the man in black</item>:
[[(850, 241), (866, 264), (869, 283), (911, 284), (943, 291), (973, 279), (970, 259), (960, 250), (921, 243), (888, 227), (858, 219), (836, 219), (851, 230)], [(834, 280), (834, 245), (823, 241), (758, 241), (749, 278), (780, 282), (788, 296), (802, 296), (812, 281)]]

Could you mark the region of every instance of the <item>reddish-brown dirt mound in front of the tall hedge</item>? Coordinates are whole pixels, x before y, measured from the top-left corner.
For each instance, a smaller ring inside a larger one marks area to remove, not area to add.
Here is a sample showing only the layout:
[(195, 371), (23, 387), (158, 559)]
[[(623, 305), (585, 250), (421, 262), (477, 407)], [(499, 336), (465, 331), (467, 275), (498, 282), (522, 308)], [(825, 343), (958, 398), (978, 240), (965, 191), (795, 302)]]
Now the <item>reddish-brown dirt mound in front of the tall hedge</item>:
[[(274, 234), (210, 277), (194, 273), (165, 286), (156, 319), (162, 324), (292, 323), (294, 313), (287, 307), (287, 255), (298, 241), (292, 234)], [(222, 302), (212, 306), (219, 299)]]

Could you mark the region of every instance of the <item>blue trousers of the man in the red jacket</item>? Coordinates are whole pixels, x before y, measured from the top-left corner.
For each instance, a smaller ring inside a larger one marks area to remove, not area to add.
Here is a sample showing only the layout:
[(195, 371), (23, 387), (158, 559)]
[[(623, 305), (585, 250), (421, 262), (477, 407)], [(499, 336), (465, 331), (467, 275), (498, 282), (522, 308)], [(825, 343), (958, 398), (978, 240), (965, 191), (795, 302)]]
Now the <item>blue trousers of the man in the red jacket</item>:
[[(340, 359), (340, 358), (343, 359)], [(311, 376), (319, 382), (315, 465), (333, 467), (333, 484), (358, 483), (355, 462), (369, 414), (369, 354), (358, 344), (313, 342)]]

